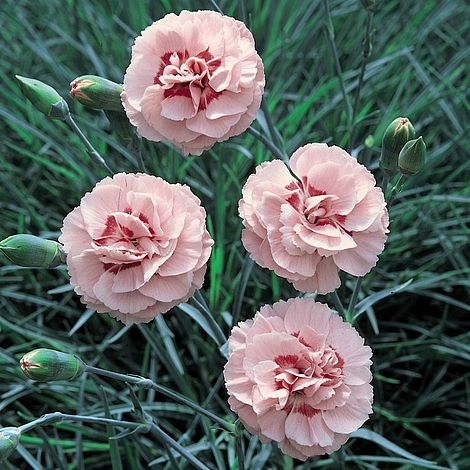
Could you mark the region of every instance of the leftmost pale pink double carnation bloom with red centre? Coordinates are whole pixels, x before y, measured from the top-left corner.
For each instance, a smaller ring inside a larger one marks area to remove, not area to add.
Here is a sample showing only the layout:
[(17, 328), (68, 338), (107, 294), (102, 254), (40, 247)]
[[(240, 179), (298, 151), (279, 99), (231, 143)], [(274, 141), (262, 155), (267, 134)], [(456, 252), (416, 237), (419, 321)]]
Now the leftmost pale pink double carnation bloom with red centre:
[(148, 322), (204, 281), (213, 240), (187, 186), (145, 174), (100, 181), (64, 219), (70, 282), (89, 308)]

